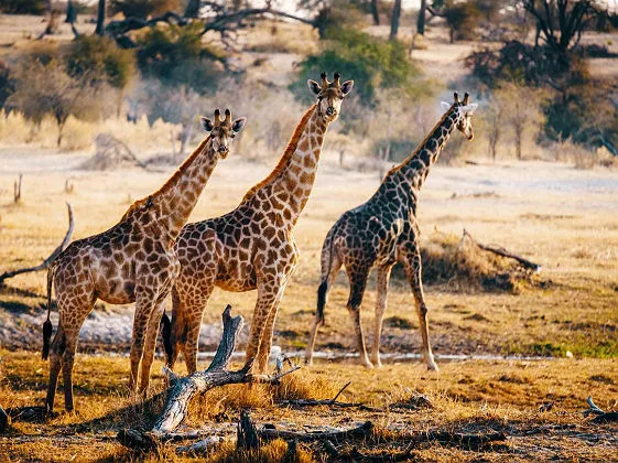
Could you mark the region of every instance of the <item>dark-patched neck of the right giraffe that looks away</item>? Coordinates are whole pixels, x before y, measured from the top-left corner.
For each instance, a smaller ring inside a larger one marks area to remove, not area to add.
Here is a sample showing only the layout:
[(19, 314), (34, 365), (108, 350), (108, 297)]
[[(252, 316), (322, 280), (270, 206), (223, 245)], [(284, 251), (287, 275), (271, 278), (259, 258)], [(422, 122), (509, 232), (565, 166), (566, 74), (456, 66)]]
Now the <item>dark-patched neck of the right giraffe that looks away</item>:
[(457, 126), (458, 117), (457, 106), (453, 106), (412, 154), (391, 172), (401, 172), (412, 187), (420, 190)]

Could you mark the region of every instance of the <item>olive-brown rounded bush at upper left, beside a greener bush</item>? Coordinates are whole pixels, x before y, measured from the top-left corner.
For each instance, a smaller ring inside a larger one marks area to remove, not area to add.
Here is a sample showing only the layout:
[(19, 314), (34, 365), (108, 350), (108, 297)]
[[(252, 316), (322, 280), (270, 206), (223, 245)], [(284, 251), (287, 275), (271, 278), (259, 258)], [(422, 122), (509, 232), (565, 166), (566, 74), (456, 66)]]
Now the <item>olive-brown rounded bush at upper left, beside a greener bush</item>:
[(82, 35), (69, 46), (65, 62), (72, 77), (87, 77), (106, 82), (123, 89), (135, 74), (135, 56), (132, 51), (119, 49), (109, 37)]

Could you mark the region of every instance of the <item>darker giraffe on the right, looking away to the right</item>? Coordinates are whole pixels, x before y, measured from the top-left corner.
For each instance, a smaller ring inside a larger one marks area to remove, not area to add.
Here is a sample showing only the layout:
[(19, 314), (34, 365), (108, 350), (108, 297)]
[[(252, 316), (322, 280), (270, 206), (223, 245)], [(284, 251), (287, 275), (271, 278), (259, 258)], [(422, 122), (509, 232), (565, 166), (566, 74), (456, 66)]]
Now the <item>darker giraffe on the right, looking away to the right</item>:
[[(373, 196), (365, 204), (344, 213), (326, 235), (322, 246), (322, 279), (317, 290), (317, 310), (305, 352), (305, 360), (308, 364), (312, 363), (317, 330), (324, 324), (328, 288), (341, 266), (345, 266), (350, 286), (347, 309), (353, 321), (360, 362), (368, 368), (373, 365), (381, 366), (380, 334), (387, 309), (389, 278), (393, 265), (399, 261), (405, 269), (414, 294), (423, 340), (423, 358), (429, 369), (437, 370), (430, 346), (427, 306), (421, 280), (416, 206), (421, 186), (455, 128), (468, 140), (474, 138), (470, 118), (477, 106), (469, 104), (468, 94), (463, 101), (459, 101), (457, 93), (454, 104), (442, 101), (446, 112), (427, 138), (401, 164), (387, 173)], [(378, 272), (378, 298), (373, 348), (369, 360), (360, 325), (360, 305), (367, 278), (373, 267), (377, 267)]]

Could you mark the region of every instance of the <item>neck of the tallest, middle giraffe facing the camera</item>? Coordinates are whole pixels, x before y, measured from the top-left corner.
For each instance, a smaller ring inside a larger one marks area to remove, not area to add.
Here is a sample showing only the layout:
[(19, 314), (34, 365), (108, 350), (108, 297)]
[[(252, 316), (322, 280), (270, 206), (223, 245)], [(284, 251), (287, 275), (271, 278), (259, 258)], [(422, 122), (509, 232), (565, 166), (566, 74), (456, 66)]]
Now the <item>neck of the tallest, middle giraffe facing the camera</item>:
[(311, 195), (328, 122), (312, 106), (301, 119), (279, 164), (245, 195), (269, 202), (274, 212), (294, 226)]

